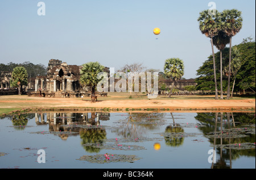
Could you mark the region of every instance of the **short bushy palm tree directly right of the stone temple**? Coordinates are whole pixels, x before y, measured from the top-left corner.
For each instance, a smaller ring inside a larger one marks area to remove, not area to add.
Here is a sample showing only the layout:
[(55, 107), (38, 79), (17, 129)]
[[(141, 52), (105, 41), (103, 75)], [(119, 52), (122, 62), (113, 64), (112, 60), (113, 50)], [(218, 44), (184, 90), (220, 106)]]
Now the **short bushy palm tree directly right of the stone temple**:
[(97, 84), (104, 78), (98, 78), (98, 73), (103, 72), (104, 66), (102, 66), (99, 62), (88, 62), (82, 65), (80, 83), (82, 86), (89, 86), (92, 89), (92, 102), (95, 102), (95, 88)]

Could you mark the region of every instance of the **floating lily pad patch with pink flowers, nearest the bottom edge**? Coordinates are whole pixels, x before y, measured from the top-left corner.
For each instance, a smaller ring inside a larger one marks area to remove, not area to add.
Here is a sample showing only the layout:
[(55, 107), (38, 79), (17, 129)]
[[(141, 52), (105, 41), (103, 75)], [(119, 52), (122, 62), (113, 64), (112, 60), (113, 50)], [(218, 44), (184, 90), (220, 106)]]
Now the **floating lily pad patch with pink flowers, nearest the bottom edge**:
[(94, 156), (84, 155), (79, 159), (80, 161), (88, 161), (90, 163), (105, 164), (110, 162), (130, 162), (141, 160), (141, 158), (135, 155), (125, 154), (96, 154)]

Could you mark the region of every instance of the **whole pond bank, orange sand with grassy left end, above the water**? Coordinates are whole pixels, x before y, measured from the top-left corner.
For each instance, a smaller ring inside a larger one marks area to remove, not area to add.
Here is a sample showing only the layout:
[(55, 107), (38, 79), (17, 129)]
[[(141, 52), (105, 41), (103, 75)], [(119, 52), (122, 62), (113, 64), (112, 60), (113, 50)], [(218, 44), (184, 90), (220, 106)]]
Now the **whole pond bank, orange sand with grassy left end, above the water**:
[(40, 98), (1, 96), (0, 114), (22, 111), (98, 111), (98, 112), (228, 112), (255, 111), (255, 99), (106, 99), (91, 103), (89, 98)]

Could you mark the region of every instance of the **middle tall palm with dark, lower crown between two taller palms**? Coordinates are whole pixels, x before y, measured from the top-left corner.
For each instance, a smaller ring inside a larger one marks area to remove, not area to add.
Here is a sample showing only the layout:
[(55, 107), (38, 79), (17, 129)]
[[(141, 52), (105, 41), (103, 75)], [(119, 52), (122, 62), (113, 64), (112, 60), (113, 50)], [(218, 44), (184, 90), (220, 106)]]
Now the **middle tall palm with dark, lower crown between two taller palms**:
[(222, 87), (222, 50), (229, 43), (229, 37), (223, 31), (219, 31), (217, 36), (213, 37), (213, 45), (220, 51), (220, 81), (221, 81), (221, 95), (220, 99), (223, 99), (223, 87)]

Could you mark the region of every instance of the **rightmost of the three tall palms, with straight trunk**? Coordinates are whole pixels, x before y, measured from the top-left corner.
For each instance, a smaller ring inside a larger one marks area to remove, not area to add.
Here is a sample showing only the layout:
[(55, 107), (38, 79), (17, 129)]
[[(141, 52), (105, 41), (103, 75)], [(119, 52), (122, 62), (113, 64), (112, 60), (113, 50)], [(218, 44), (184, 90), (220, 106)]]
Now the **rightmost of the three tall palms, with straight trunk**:
[(223, 22), (222, 30), (230, 38), (229, 43), (229, 74), (228, 74), (228, 92), (227, 99), (230, 98), (230, 75), (231, 75), (231, 51), (232, 51), (232, 37), (235, 36), (242, 28), (242, 12), (236, 9), (224, 10), (221, 14)]

